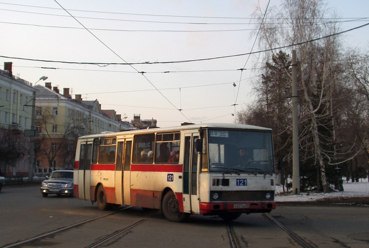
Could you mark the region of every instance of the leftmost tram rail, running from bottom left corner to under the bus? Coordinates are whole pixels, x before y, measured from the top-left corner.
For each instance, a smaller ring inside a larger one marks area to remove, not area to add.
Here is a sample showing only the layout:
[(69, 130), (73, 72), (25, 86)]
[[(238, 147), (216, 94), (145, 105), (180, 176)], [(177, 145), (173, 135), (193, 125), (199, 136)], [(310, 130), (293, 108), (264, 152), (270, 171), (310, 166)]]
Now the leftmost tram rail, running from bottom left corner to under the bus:
[(119, 210), (116, 210), (116, 211), (113, 211), (111, 213), (107, 213), (107, 214), (104, 214), (104, 215), (101, 215), (101, 216), (97, 216), (97, 217), (94, 217), (94, 218), (90, 218), (88, 220), (84, 220), (84, 221), (81, 221), (81, 222), (78, 222), (78, 223), (75, 223), (75, 224), (72, 224), (72, 225), (68, 225), (66, 227), (62, 227), (62, 228), (58, 228), (56, 230), (53, 230), (53, 231), (50, 231), (50, 232), (46, 232), (44, 234), (40, 234), (40, 235), (37, 235), (35, 237), (32, 237), (32, 238), (28, 238), (26, 240), (22, 240), (20, 242), (16, 242), (14, 244), (11, 244), (11, 245), (6, 245), (6, 246), (3, 246), (1, 248), (12, 248), (12, 247), (17, 247), (17, 246), (20, 246), (20, 245), (24, 245), (24, 244), (27, 244), (29, 242), (32, 242), (32, 241), (35, 241), (35, 240), (39, 240), (41, 238), (45, 238), (45, 237), (48, 237), (50, 235), (54, 235), (58, 232), (63, 232), (63, 231), (66, 231), (66, 230), (69, 230), (69, 229), (72, 229), (72, 228), (75, 228), (75, 227), (78, 227), (80, 225), (83, 225), (83, 224), (86, 224), (86, 223), (89, 223), (91, 221), (94, 221), (94, 220), (98, 220), (100, 218), (104, 218), (104, 217), (107, 217), (107, 216), (110, 216), (112, 214), (116, 214), (120, 211), (123, 211), (123, 210), (126, 210), (126, 209), (130, 209), (132, 206), (129, 206), (129, 207), (125, 207), (124, 209), (119, 209)]

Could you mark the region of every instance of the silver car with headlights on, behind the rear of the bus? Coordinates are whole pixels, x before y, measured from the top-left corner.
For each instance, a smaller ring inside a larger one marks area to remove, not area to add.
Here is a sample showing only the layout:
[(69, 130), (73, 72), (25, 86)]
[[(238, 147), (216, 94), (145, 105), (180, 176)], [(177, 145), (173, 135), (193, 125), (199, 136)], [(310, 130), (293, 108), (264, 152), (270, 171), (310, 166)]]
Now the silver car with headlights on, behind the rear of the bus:
[(73, 170), (59, 170), (51, 172), (41, 184), (41, 194), (67, 194), (73, 197)]

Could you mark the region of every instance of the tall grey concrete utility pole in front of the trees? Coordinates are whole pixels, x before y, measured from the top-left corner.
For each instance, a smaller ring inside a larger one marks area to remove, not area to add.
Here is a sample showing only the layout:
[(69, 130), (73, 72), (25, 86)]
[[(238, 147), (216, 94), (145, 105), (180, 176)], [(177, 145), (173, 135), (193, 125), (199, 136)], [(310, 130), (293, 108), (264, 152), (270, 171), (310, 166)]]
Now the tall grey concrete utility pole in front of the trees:
[(297, 59), (292, 50), (292, 190), (300, 194), (299, 120), (297, 118)]

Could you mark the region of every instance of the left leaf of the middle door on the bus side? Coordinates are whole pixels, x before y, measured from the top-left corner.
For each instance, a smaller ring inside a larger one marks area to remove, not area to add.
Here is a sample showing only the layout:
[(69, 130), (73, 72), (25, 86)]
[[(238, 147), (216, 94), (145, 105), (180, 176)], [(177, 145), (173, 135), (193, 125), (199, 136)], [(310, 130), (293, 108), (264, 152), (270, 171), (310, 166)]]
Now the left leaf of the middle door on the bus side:
[(124, 139), (117, 141), (117, 156), (115, 158), (115, 203), (123, 204), (123, 158)]

